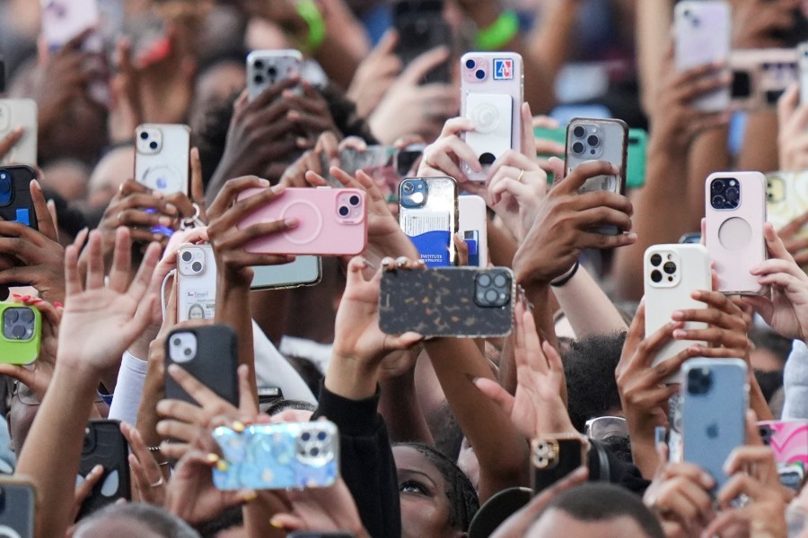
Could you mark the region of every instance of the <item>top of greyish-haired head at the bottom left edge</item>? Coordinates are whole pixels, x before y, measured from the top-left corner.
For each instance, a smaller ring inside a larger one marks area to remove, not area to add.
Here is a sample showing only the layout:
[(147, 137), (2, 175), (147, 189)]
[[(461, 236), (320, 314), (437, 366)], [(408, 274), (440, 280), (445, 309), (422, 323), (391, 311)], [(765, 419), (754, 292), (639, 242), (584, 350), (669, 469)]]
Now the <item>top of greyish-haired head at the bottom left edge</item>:
[(142, 502), (110, 505), (81, 520), (74, 538), (199, 538), (180, 517)]

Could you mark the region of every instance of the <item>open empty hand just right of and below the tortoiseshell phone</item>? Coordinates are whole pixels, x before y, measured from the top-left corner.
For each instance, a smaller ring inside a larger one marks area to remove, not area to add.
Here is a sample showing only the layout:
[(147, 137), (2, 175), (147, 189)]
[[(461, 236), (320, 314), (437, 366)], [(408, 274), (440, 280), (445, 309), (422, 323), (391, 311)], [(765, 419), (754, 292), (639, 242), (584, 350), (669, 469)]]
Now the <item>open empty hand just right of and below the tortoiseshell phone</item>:
[(558, 351), (541, 343), (530, 310), (516, 307), (516, 394), (493, 379), (474, 381), (479, 390), (502, 407), (525, 438), (548, 433), (576, 433), (566, 412), (564, 366)]

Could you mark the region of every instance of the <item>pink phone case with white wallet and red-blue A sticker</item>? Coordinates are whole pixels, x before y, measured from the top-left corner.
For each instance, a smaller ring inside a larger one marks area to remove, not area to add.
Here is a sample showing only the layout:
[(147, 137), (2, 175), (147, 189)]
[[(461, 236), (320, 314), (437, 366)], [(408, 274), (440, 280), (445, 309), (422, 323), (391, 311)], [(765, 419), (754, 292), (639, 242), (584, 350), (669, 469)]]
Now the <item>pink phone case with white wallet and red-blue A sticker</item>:
[(482, 172), (463, 163), (472, 181), (485, 181), (488, 165), (522, 147), (523, 62), (515, 52), (469, 52), (461, 57), (461, 116), (474, 131), (465, 141), (479, 156)]

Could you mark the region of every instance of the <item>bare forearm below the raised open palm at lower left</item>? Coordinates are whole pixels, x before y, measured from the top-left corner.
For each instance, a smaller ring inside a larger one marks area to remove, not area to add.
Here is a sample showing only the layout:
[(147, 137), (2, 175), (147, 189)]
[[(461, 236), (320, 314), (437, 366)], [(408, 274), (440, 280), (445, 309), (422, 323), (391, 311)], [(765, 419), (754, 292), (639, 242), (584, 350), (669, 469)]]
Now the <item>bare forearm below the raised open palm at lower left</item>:
[(22, 447), (16, 473), (37, 487), (37, 536), (64, 536), (72, 523), (75, 477), (99, 375), (59, 361), (48, 394)]

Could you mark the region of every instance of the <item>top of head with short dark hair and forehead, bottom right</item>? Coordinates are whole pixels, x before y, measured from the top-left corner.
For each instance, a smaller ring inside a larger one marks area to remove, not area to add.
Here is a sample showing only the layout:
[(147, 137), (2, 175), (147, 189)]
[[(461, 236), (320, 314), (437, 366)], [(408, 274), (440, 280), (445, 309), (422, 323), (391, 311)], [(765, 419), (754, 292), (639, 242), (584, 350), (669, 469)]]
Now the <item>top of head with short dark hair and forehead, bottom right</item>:
[(590, 482), (552, 499), (525, 536), (664, 538), (664, 533), (642, 499), (614, 484)]

